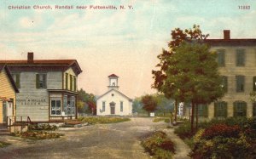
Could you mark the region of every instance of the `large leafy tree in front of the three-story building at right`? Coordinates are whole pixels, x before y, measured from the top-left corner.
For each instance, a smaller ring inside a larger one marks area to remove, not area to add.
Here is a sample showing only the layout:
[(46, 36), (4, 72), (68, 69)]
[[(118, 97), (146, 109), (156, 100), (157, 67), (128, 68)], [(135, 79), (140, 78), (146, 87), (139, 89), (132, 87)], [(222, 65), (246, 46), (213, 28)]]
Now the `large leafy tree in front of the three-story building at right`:
[(208, 46), (203, 44), (207, 37), (199, 26), (185, 31), (175, 29), (172, 41), (168, 43), (169, 50), (163, 49), (158, 55), (160, 70), (152, 71), (153, 88), (167, 98), (191, 103), (191, 132), (194, 130), (195, 105), (210, 103), (224, 94), (216, 54), (209, 52)]

